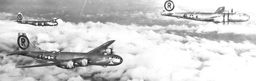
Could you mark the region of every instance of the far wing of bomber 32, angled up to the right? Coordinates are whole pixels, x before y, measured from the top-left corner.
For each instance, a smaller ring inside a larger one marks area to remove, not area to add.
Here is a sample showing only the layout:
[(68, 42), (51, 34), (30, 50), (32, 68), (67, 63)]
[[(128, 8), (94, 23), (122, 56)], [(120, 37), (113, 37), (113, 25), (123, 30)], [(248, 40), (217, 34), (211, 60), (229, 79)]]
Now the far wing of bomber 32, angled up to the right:
[(99, 52), (100, 52), (100, 51), (99, 51), (100, 49), (105, 49), (105, 48), (107, 48), (109, 45), (111, 45), (111, 44), (114, 43), (114, 42), (115, 42), (115, 40), (108, 41), (108, 42), (106, 42), (106, 43), (100, 45), (99, 47), (97, 47), (97, 48), (95, 48), (95, 49), (93, 49), (93, 50), (91, 50), (91, 51), (89, 51), (89, 52), (87, 52), (87, 53), (99, 53)]

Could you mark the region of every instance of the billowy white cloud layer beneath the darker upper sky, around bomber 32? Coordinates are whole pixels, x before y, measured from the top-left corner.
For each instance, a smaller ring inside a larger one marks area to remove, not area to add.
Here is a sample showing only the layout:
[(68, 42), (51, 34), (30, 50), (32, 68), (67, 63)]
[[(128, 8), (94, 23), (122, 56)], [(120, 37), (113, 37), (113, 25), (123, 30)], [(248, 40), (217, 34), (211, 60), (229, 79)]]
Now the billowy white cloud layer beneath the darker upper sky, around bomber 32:
[[(133, 15), (148, 15), (137, 13)], [(191, 35), (211, 35), (209, 33), (212, 32), (217, 32), (217, 35), (254, 35), (253, 22), (247, 26), (205, 23), (195, 27), (183, 24), (120, 25), (111, 22), (75, 24), (58, 19), (57, 26), (41, 27), (17, 24), (8, 19), (12, 17), (9, 13), (1, 14), (4, 15), (3, 20), (0, 20), (0, 80), (3, 81), (255, 80), (253, 73), (256, 73), (256, 45), (250, 40), (233, 42)], [(121, 56), (124, 62), (106, 68), (88, 66), (70, 70), (56, 66), (15, 68), (47, 62), (25, 56), (5, 56), (17, 46), (18, 32), (26, 32), (37, 47), (46, 51), (88, 52), (108, 40), (116, 40), (110, 47), (114, 48), (115, 54)]]

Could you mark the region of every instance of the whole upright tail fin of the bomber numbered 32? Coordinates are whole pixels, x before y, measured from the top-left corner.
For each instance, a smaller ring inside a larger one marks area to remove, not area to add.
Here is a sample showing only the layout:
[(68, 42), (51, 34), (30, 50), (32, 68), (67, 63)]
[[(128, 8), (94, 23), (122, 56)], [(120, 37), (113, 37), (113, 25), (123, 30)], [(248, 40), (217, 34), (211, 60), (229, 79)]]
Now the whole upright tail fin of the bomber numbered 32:
[(36, 47), (27, 37), (26, 33), (18, 33), (18, 51), (45, 51)]

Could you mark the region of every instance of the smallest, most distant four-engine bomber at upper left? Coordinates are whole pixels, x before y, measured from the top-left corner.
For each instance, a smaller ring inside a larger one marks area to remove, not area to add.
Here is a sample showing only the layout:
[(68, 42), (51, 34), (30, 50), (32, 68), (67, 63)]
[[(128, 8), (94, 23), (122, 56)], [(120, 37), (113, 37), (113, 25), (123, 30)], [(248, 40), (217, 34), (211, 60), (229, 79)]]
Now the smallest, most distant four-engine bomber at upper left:
[(18, 13), (18, 20), (15, 21), (15, 22), (18, 22), (19, 24), (30, 24), (30, 25), (34, 25), (34, 26), (56, 26), (56, 25), (58, 25), (58, 22), (56, 21), (57, 19), (59, 19), (59, 18), (55, 18), (55, 19), (50, 20), (50, 21), (28, 21), (19, 12)]

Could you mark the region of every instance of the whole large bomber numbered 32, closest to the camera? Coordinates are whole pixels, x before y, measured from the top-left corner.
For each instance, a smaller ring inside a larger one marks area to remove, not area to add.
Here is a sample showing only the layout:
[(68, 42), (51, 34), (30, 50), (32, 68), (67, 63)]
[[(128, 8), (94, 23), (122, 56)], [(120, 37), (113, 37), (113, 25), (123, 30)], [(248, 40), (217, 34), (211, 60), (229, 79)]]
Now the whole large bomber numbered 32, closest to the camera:
[(45, 51), (36, 47), (26, 36), (26, 33), (18, 33), (17, 50), (7, 55), (22, 55), (52, 61), (52, 63), (22, 66), (17, 68), (41, 67), (55, 65), (64, 69), (73, 69), (89, 65), (100, 65), (103, 67), (119, 65), (123, 62), (122, 57), (112, 54), (112, 48), (108, 46), (115, 40), (108, 41), (87, 53), (79, 52), (57, 52)]

